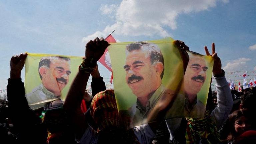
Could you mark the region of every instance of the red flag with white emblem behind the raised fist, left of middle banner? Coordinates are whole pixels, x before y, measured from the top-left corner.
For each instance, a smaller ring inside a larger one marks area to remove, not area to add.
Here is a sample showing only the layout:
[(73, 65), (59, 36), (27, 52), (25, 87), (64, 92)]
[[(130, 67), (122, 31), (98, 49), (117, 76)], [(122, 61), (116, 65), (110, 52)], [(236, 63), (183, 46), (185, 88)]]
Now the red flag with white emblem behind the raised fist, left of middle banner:
[[(105, 38), (105, 41), (109, 42), (109, 43), (115, 43), (116, 40), (114, 39), (114, 37), (110, 34)], [(110, 60), (110, 56), (108, 53), (108, 49), (105, 50), (104, 54), (102, 55), (102, 57), (99, 59), (99, 62), (104, 65), (109, 71), (112, 72), (112, 66), (111, 66), (111, 60)], [(111, 74), (111, 79), (110, 79), (110, 83), (112, 84), (112, 80), (113, 80), (113, 72)]]

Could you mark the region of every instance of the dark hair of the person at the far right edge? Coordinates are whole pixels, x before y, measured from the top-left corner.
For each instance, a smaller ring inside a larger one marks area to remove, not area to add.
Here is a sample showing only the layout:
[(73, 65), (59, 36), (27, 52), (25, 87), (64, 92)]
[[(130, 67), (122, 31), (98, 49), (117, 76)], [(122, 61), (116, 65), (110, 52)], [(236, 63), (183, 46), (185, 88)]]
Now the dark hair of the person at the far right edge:
[(241, 104), (243, 105), (243, 108), (256, 107), (255, 101), (256, 101), (256, 97), (251, 91), (246, 92), (241, 96)]

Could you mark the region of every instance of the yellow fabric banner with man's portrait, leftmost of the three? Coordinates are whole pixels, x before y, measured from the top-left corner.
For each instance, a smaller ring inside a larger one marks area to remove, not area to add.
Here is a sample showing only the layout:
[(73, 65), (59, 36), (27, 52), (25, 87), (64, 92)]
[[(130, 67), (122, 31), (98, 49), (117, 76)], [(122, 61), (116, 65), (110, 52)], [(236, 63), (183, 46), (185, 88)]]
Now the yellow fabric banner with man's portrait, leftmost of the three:
[(25, 93), (31, 109), (64, 100), (82, 57), (31, 54), (25, 61)]

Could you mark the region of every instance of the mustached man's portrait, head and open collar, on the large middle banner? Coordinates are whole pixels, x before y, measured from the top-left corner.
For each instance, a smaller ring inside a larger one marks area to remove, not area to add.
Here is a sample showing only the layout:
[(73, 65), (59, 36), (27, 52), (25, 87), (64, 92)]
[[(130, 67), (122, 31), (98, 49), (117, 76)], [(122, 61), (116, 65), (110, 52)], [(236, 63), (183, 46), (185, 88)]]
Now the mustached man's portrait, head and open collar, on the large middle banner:
[(126, 83), (137, 97), (131, 108), (134, 125), (144, 121), (163, 95), (173, 96), (162, 84), (164, 58), (156, 44), (135, 42), (126, 46), (126, 61), (123, 67)]

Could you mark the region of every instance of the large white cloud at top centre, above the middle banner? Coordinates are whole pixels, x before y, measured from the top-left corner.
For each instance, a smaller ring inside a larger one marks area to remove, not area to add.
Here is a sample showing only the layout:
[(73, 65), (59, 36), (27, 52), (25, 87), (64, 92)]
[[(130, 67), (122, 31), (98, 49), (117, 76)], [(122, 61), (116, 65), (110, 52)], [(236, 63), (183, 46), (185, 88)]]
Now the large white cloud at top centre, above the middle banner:
[[(172, 36), (165, 27), (177, 28), (176, 18), (179, 14), (199, 12), (214, 7), (218, 0), (123, 0), (117, 5), (101, 5), (103, 14), (112, 14), (115, 23), (103, 31), (97, 31), (83, 38), (83, 42), (92, 36), (107, 35), (115, 30), (115, 35), (129, 36)], [(220, 1), (220, 0), (219, 0)], [(226, 3), (228, 0), (221, 0)], [(115, 10), (116, 9), (116, 10)]]

